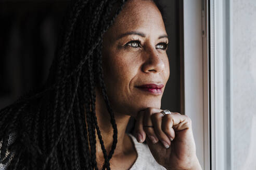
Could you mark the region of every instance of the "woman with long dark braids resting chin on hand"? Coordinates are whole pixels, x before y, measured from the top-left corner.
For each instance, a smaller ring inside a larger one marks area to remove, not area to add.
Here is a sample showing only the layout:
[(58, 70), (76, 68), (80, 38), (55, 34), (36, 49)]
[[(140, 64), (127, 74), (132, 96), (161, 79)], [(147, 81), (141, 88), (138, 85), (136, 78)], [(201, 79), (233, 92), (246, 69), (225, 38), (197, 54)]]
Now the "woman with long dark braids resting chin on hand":
[(74, 3), (45, 87), (1, 110), (8, 169), (201, 169), (190, 119), (160, 109), (168, 36), (156, 4)]

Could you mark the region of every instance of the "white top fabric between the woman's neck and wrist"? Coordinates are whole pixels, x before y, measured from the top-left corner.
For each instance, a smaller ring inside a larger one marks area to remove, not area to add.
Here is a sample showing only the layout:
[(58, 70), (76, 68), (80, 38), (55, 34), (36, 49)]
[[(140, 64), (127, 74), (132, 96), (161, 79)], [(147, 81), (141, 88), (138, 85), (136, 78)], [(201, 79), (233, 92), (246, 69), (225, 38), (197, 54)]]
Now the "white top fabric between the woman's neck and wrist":
[(166, 170), (162, 165), (158, 164), (155, 158), (153, 158), (153, 155), (151, 154), (151, 151), (149, 147), (146, 144), (138, 143), (136, 138), (129, 134), (131, 136), (134, 147), (137, 151), (137, 160), (133, 164), (130, 170), (135, 169), (142, 169), (142, 170), (153, 170), (153, 169), (159, 169), (159, 170)]

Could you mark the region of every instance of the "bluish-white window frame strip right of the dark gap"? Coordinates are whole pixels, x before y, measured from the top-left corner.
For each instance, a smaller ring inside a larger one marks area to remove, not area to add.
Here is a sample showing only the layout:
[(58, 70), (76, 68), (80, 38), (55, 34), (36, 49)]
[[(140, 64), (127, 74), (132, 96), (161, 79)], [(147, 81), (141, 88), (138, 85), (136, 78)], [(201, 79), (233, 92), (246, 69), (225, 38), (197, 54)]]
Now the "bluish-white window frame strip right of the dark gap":
[(211, 162), (233, 169), (232, 158), (232, 0), (210, 3)]

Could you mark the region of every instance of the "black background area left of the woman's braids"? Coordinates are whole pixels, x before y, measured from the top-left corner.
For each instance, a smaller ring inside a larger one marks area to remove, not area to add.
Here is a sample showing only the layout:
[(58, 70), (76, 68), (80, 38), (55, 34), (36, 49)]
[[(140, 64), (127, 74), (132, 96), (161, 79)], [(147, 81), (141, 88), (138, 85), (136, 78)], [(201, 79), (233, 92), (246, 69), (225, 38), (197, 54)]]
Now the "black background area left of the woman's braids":
[(0, 109), (41, 87), (67, 2), (0, 1)]

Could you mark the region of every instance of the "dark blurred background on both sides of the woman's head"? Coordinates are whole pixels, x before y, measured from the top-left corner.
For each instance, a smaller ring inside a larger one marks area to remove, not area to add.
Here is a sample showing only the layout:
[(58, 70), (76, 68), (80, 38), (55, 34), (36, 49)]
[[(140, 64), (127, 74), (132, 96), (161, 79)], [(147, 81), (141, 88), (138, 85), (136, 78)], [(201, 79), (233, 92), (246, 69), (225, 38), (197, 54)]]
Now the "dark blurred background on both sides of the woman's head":
[[(162, 108), (184, 112), (183, 1), (162, 0), (169, 35), (170, 78)], [(0, 2), (0, 108), (42, 86), (69, 1)]]

